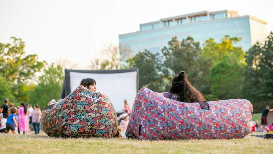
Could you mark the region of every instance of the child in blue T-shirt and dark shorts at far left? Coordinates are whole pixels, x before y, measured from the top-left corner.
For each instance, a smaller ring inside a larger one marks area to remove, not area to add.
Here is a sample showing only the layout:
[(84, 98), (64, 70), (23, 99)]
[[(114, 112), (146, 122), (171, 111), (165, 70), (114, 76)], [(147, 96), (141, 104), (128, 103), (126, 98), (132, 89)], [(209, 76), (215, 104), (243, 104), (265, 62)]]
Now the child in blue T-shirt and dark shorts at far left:
[(15, 106), (13, 106), (11, 108), (11, 115), (9, 115), (9, 117), (7, 118), (7, 122), (6, 122), (6, 130), (7, 130), (7, 133), (10, 133), (9, 130), (12, 131), (12, 133), (16, 133), (15, 131), (15, 128), (14, 128), (14, 125), (17, 127), (17, 122), (16, 122), (16, 113), (17, 113), (17, 108)]

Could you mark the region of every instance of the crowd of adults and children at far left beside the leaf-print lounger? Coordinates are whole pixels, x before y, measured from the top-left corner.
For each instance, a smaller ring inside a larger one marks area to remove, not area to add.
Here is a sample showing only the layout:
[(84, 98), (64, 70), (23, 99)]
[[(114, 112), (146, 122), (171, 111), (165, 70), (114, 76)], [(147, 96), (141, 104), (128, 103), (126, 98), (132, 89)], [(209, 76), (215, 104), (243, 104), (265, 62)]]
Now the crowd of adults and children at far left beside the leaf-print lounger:
[(41, 110), (38, 104), (24, 103), (16, 108), (13, 104), (9, 104), (9, 99), (5, 98), (4, 104), (0, 106), (0, 132), (1, 133), (19, 133), (23, 134), (34, 130), (35, 134), (40, 133)]

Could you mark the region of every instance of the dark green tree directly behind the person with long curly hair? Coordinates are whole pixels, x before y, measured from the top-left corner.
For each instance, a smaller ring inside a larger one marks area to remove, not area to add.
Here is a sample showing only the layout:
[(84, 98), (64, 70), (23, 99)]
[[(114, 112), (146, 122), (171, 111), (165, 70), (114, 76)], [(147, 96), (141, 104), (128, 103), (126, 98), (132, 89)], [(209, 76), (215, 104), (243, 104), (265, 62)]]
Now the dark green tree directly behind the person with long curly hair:
[[(177, 37), (174, 37), (168, 44), (168, 48), (164, 47), (162, 49), (164, 74), (173, 76), (180, 71), (185, 71), (187, 78), (195, 88), (204, 94), (210, 93), (207, 81), (211, 62), (201, 56), (199, 42), (195, 42), (192, 37), (187, 37), (179, 42)], [(169, 87), (169, 85), (166, 85), (166, 87)]]

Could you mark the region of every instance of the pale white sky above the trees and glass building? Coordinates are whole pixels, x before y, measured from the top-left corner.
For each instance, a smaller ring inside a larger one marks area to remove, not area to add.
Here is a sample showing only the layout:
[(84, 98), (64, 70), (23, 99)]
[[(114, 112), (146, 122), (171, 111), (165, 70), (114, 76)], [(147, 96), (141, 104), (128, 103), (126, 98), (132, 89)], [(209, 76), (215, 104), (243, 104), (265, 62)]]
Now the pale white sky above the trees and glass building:
[(119, 44), (119, 35), (139, 24), (200, 11), (238, 11), (268, 22), (273, 31), (272, 0), (0, 0), (0, 42), (22, 38), (26, 54), (48, 63), (60, 58), (86, 68), (101, 50)]

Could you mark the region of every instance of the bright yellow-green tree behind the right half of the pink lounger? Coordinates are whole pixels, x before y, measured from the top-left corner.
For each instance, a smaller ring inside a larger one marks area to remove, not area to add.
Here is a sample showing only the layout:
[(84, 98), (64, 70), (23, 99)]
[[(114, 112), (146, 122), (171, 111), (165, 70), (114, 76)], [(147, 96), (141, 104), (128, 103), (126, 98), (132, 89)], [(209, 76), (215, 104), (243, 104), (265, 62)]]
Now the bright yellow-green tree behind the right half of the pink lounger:
[[(243, 71), (242, 69), (245, 65), (245, 53), (240, 46), (234, 46), (234, 44), (240, 40), (241, 38), (230, 38), (226, 35), (220, 43), (217, 43), (213, 38), (210, 38), (206, 40), (206, 43), (204, 44), (201, 56), (202, 63), (204, 64), (201, 64), (200, 68), (203, 70), (204, 78), (207, 78), (210, 81), (204, 85), (204, 88), (211, 87), (210, 90), (212, 98), (214, 99), (215, 96), (219, 99), (230, 99), (237, 96), (239, 98), (242, 97), (239, 95), (242, 93), (233, 93), (241, 92), (241, 85), (240, 87), (236, 87), (236, 84), (226, 84), (230, 83), (232, 80), (236, 81), (239, 80), (238, 78), (243, 78), (240, 71)], [(224, 70), (224, 68), (227, 70)], [(241, 80), (238, 82), (242, 83)], [(238, 89), (231, 90), (231, 85)], [(201, 92), (203, 91), (204, 90), (201, 90)], [(204, 94), (209, 94), (209, 92), (210, 91), (207, 91)]]

